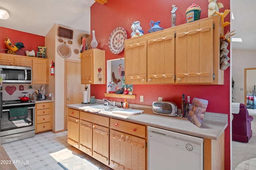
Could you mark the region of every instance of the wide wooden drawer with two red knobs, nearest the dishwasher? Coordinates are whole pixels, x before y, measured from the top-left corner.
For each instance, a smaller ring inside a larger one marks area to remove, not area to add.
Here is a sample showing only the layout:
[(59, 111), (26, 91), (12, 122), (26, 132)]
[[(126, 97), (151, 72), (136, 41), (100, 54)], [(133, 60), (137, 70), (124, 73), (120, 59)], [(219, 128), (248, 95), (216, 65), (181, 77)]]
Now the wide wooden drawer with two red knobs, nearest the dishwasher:
[(129, 133), (138, 137), (145, 138), (146, 127), (143, 125), (138, 125), (136, 123), (130, 123), (126, 121), (121, 121), (117, 119), (110, 119), (110, 128)]

